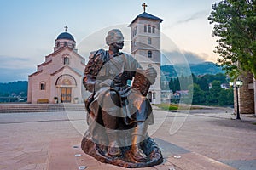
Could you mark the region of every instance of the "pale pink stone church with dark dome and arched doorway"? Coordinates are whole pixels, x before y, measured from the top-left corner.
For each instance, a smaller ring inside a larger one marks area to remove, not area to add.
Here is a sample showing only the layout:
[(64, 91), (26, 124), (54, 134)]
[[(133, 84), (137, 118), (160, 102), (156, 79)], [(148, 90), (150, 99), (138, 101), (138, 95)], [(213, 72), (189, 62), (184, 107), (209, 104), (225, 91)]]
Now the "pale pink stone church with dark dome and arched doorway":
[(85, 59), (78, 54), (73, 36), (66, 31), (55, 40), (52, 54), (28, 76), (27, 102), (81, 103)]

